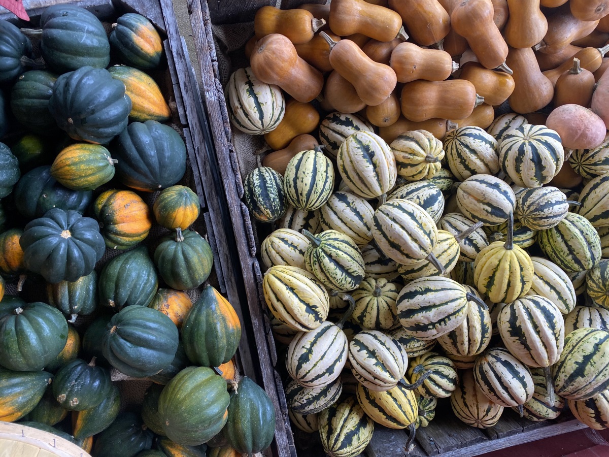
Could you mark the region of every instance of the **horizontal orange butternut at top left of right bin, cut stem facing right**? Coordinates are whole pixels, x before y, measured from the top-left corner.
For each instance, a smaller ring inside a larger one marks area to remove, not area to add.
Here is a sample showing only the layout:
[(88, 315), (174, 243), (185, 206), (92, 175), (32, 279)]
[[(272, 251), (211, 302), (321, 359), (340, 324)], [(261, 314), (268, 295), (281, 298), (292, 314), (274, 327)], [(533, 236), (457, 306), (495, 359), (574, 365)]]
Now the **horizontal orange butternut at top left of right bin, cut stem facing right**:
[(307, 10), (280, 10), (267, 5), (254, 16), (254, 32), (258, 40), (266, 35), (281, 34), (292, 43), (300, 44), (311, 40), (325, 23), (325, 19), (316, 19)]

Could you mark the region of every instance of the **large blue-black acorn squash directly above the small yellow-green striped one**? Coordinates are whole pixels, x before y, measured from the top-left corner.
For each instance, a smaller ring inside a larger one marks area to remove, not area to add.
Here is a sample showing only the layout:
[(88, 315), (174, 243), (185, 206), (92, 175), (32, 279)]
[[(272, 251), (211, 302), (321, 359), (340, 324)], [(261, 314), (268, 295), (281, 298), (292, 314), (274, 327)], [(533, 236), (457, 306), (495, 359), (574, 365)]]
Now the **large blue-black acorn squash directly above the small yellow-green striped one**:
[(57, 78), (49, 109), (74, 140), (106, 144), (127, 127), (131, 99), (107, 69), (83, 66)]

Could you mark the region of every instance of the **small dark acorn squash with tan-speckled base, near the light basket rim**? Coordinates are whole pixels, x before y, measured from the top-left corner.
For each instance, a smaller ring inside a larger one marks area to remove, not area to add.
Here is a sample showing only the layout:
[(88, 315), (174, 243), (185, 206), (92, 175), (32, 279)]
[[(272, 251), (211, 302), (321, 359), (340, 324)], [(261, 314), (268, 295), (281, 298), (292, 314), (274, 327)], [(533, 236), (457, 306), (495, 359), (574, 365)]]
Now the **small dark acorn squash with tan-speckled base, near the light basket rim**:
[(69, 411), (90, 409), (110, 394), (110, 372), (82, 359), (72, 360), (59, 369), (53, 380), (53, 395)]

